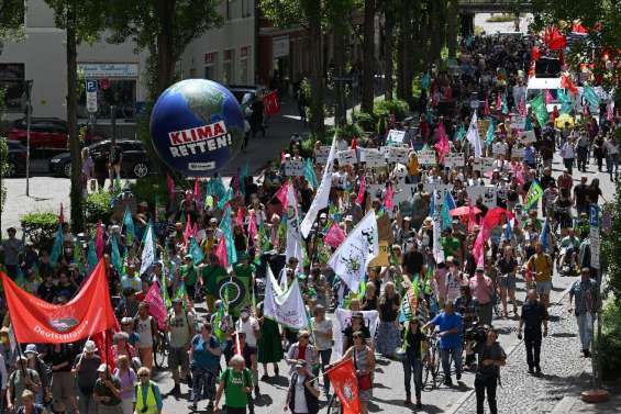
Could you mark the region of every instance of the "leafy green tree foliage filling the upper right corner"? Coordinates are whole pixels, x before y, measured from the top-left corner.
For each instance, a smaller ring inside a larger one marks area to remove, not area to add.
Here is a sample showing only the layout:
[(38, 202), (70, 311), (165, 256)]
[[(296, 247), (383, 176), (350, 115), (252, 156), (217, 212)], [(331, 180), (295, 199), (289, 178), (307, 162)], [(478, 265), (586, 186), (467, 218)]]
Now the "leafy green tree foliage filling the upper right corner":
[(555, 25), (568, 34), (574, 24), (587, 31), (586, 42), (574, 44), (566, 61), (575, 71), (581, 65), (591, 65), (596, 85), (607, 89), (619, 86), (621, 80), (621, 2), (618, 0), (532, 0), (534, 21), (531, 29), (542, 31)]

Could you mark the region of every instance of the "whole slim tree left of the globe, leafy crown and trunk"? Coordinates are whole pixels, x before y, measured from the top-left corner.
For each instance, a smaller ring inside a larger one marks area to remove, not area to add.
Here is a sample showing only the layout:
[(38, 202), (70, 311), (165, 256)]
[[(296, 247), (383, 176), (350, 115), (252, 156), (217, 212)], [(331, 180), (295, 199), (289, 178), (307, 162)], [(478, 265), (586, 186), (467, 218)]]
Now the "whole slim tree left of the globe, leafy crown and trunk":
[(71, 230), (84, 230), (81, 157), (78, 138), (78, 64), (77, 47), (92, 43), (106, 27), (106, 0), (45, 0), (54, 10), (56, 26), (66, 31), (67, 126), (71, 153)]

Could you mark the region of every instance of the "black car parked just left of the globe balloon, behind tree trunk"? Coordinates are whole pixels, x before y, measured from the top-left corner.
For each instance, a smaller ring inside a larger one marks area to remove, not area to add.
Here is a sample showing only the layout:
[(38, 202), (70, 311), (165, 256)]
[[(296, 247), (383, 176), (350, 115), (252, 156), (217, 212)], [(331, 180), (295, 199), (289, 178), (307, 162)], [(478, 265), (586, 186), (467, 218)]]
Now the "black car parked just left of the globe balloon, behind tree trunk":
[[(121, 175), (123, 177), (143, 178), (153, 171), (148, 154), (140, 141), (117, 141), (123, 153)], [(104, 139), (88, 146), (90, 157), (96, 164), (108, 163), (110, 155), (110, 139)], [(55, 176), (71, 177), (70, 153), (59, 154), (49, 159), (49, 171)]]

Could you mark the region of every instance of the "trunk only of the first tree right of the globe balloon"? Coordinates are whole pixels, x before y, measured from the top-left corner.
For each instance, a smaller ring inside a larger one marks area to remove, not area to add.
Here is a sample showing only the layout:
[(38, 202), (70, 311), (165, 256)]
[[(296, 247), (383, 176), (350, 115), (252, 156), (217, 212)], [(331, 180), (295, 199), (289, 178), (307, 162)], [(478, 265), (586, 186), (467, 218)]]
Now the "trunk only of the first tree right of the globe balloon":
[(323, 48), (321, 36), (321, 8), (314, 1), (304, 1), (304, 10), (309, 20), (310, 36), (310, 85), (311, 85), (311, 104), (310, 104), (310, 127), (311, 132), (318, 137), (322, 137), (325, 133), (323, 120)]

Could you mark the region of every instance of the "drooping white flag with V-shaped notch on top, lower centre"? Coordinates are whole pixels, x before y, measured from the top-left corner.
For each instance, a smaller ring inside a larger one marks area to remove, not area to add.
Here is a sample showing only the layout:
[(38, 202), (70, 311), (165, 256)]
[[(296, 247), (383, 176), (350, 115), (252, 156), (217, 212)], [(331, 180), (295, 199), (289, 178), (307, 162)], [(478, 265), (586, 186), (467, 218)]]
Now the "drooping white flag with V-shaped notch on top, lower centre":
[(263, 314), (292, 329), (303, 329), (308, 325), (307, 309), (302, 300), (302, 293), (298, 284), (298, 279), (282, 291), (269, 265), (267, 265), (267, 275), (265, 277), (265, 299), (263, 300)]

